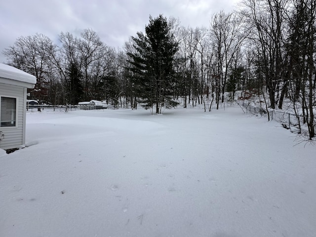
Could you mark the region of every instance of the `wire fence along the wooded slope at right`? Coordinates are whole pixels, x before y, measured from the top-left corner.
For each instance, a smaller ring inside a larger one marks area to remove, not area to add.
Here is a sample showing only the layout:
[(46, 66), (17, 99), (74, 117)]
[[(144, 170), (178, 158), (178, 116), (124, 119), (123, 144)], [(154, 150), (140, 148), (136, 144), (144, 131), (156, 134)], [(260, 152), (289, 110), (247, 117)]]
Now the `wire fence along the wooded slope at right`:
[[(260, 114), (261, 116), (267, 116), (267, 111), (263, 108), (263, 106), (264, 104), (253, 106), (242, 102), (242, 107), (246, 109), (246, 113), (249, 112), (254, 115)], [(270, 111), (269, 115), (271, 120), (276, 120), (285, 128), (295, 130), (299, 133), (308, 132), (306, 116), (304, 117), (282, 111)], [(314, 119), (314, 124), (316, 124), (316, 119)]]

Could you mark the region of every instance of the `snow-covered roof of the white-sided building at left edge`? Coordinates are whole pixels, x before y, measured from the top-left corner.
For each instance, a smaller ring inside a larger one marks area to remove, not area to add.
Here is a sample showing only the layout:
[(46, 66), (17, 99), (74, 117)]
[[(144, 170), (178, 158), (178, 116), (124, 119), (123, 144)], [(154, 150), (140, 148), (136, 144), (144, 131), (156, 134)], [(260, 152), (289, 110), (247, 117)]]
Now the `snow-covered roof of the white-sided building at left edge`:
[(0, 78), (36, 84), (35, 76), (3, 63), (0, 63)]

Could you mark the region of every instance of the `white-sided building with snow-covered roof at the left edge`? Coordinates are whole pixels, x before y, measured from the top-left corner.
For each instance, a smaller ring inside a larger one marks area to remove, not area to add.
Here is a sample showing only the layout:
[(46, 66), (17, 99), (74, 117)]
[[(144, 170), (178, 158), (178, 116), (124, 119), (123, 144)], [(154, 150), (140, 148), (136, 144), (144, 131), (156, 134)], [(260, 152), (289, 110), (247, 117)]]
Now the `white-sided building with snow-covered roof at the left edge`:
[(34, 88), (36, 78), (0, 63), (0, 148), (25, 146), (27, 88)]

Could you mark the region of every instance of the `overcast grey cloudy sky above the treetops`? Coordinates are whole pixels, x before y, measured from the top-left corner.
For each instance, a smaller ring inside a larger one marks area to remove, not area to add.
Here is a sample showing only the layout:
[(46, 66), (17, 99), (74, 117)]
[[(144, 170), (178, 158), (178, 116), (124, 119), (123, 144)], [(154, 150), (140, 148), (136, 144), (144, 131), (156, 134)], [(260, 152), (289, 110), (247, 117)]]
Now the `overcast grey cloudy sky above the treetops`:
[(36, 33), (58, 42), (61, 32), (79, 36), (96, 31), (109, 46), (121, 47), (129, 36), (144, 32), (149, 16), (178, 18), (183, 26), (209, 26), (213, 13), (235, 9), (237, 0), (1, 0), (0, 62), (4, 48), (20, 36)]

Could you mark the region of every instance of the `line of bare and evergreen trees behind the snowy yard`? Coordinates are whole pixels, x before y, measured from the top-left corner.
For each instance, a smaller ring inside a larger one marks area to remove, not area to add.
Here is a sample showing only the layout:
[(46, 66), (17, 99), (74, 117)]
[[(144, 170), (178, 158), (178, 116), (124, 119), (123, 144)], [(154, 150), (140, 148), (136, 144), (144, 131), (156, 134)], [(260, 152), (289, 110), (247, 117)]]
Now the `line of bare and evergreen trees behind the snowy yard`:
[(32, 99), (52, 104), (106, 100), (161, 113), (180, 100), (185, 108), (202, 104), (210, 111), (255, 94), (267, 110), (290, 101), (312, 139), (315, 19), (315, 0), (243, 0), (238, 10), (213, 14), (208, 27), (150, 16), (145, 31), (121, 49), (85, 29), (80, 37), (61, 33), (57, 44), (41, 34), (20, 37), (3, 54), (7, 64), (36, 76)]

